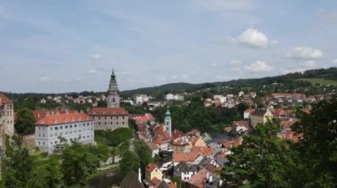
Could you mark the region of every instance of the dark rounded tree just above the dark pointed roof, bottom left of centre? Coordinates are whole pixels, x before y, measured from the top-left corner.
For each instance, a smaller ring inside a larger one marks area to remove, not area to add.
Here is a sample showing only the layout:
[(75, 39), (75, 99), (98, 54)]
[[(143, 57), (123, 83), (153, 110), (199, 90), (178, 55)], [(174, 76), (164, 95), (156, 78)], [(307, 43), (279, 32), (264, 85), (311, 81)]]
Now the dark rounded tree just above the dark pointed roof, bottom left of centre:
[(135, 152), (125, 151), (121, 156), (120, 175), (125, 177), (129, 171), (137, 172), (139, 168), (139, 156)]

